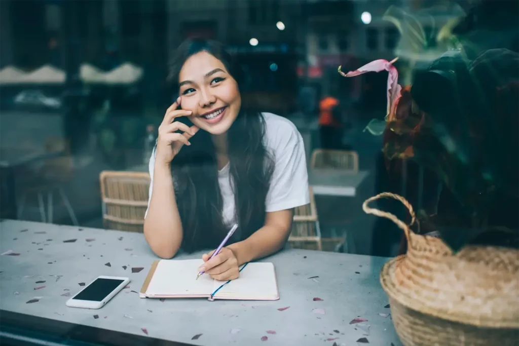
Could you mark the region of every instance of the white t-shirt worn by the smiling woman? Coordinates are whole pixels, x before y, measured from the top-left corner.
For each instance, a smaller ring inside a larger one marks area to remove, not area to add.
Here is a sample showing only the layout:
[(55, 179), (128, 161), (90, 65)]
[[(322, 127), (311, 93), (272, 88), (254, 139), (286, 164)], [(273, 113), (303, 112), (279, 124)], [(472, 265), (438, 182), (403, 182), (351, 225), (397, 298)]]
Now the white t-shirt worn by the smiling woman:
[[(264, 144), (275, 159), (274, 172), (265, 200), (266, 212), (277, 212), (310, 203), (305, 146), (301, 133), (286, 118), (272, 113), (263, 113), (263, 116), (265, 118)], [(152, 154), (149, 159), (149, 176), (152, 179), (149, 184), (150, 200), (154, 167), (155, 154)], [(222, 170), (218, 171), (218, 184), (223, 199), (222, 216), (226, 225), (236, 223), (236, 206), (230, 181), (229, 163), (227, 163)]]

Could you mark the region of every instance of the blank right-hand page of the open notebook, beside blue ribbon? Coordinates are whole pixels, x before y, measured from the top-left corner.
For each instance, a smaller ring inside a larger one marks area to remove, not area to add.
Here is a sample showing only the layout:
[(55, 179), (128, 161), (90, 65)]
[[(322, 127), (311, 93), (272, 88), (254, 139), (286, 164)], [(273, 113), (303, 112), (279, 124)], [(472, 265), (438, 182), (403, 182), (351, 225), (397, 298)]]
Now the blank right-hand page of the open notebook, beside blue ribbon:
[[(215, 289), (225, 282), (214, 281)], [(274, 265), (251, 262), (240, 272), (238, 279), (223, 286), (215, 298), (270, 300), (278, 299), (278, 285)]]

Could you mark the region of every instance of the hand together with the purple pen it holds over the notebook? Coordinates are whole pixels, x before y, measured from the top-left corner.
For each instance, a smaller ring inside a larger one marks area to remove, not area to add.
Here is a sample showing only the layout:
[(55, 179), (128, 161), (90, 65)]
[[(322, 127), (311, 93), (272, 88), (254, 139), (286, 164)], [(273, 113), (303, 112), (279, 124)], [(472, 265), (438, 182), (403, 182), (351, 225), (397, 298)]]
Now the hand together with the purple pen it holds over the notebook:
[[(207, 260), (204, 259), (205, 263), (198, 269), (200, 272), (196, 277), (197, 279), (204, 273), (208, 273), (213, 279), (221, 281), (238, 278), (238, 260), (231, 250), (224, 248), (225, 244), (228, 242), (237, 228), (238, 225), (235, 224), (233, 228), (229, 230), (222, 243), (220, 243), (220, 246), (216, 248), (216, 250)], [(207, 257), (207, 255), (204, 256)]]

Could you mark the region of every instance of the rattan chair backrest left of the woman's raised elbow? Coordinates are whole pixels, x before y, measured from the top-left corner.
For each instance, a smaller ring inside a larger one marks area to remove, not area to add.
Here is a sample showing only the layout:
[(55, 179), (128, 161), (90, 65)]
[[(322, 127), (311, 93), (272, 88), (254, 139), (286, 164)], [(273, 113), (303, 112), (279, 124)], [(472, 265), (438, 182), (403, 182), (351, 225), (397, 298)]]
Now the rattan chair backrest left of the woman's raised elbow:
[(99, 183), (105, 228), (143, 231), (150, 180), (146, 172), (103, 171), (100, 173)]

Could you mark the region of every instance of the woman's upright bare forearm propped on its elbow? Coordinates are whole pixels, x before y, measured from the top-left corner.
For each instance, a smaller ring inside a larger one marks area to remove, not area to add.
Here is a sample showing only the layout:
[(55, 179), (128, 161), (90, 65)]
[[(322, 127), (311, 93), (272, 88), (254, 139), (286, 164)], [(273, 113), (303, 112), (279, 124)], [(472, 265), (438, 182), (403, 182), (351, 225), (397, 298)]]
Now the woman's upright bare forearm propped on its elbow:
[(156, 163), (152, 197), (144, 220), (144, 237), (157, 256), (171, 258), (179, 251), (182, 234), (171, 170), (167, 165)]

